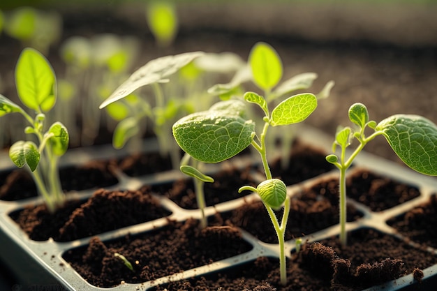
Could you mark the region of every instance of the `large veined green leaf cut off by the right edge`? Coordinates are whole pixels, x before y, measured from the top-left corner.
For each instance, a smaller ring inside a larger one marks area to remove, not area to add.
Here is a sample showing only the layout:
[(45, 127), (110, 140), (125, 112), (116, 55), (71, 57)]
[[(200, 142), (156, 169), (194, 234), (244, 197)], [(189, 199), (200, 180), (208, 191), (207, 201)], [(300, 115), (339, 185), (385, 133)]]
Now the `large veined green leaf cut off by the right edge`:
[(403, 163), (422, 174), (437, 175), (437, 126), (418, 115), (396, 114), (380, 121), (376, 130)]

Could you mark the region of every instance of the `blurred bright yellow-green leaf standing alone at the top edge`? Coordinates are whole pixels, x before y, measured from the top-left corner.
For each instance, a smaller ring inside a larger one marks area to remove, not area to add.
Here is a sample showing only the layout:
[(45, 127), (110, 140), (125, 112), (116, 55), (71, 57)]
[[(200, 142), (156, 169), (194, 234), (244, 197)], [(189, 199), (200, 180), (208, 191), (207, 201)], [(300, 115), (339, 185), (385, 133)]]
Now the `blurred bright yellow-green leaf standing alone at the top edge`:
[(158, 45), (167, 47), (177, 34), (175, 6), (168, 1), (154, 1), (147, 6), (147, 23)]

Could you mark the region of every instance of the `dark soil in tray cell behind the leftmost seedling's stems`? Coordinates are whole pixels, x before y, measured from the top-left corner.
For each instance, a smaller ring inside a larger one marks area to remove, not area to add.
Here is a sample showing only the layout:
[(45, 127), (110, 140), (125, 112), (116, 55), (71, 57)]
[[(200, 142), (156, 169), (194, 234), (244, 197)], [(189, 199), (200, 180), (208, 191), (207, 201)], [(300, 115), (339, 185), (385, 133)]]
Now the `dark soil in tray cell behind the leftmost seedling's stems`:
[[(103, 188), (118, 183), (108, 161), (90, 161), (86, 165), (59, 169), (59, 179), (64, 191), (82, 191)], [(37, 190), (29, 172), (24, 169), (0, 173), (0, 199), (6, 201), (36, 197)]]

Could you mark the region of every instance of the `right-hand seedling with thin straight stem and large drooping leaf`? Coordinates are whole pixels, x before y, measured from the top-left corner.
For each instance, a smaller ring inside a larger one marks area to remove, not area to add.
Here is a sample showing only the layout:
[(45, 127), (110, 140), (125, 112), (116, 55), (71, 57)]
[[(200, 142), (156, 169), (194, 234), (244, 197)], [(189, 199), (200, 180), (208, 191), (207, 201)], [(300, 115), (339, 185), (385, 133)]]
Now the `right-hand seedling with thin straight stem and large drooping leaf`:
[[(347, 244), (346, 236), (346, 170), (360, 154), (364, 146), (378, 135), (383, 135), (401, 161), (422, 174), (437, 175), (437, 126), (424, 117), (410, 114), (396, 114), (387, 117), (379, 124), (369, 121), (369, 112), (362, 103), (349, 108), (349, 119), (355, 128), (346, 127), (336, 133), (332, 151), (341, 147), (340, 156), (330, 154), (326, 157), (340, 170), (340, 241)], [(366, 135), (366, 128), (373, 133)], [(346, 157), (346, 149), (353, 140), (360, 144)]]

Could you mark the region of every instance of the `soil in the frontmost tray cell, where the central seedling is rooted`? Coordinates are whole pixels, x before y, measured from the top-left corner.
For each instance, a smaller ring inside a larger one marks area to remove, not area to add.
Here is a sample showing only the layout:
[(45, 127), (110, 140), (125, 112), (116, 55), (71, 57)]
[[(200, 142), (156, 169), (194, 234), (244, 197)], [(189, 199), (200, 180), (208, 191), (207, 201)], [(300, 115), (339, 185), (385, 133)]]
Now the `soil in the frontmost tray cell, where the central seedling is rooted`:
[(305, 244), (302, 251), (293, 253), (287, 262), (286, 287), (280, 285), (279, 261), (261, 257), (219, 273), (157, 286), (154, 290), (352, 291), (405, 274), (419, 274), (420, 269), (437, 262), (436, 255), (375, 230), (356, 230), (348, 238), (346, 247), (341, 246), (338, 238), (332, 238)]

